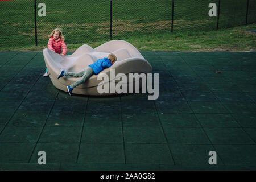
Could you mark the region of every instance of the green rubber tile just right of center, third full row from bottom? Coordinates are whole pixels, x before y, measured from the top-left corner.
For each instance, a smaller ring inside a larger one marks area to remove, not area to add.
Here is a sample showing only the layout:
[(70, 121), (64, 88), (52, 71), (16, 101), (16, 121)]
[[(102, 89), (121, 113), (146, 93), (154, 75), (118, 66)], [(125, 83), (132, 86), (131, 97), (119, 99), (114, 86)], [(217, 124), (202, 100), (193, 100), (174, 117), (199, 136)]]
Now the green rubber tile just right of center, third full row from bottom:
[(131, 113), (122, 114), (123, 126), (126, 127), (160, 127), (156, 113)]

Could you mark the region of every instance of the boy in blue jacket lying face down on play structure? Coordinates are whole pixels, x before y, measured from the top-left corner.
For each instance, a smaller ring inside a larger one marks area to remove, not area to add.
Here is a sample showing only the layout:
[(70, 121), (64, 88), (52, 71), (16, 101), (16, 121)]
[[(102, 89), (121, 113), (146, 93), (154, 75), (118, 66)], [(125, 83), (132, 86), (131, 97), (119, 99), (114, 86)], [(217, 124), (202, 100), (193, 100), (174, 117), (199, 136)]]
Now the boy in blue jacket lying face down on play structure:
[(63, 76), (71, 76), (71, 77), (81, 77), (81, 79), (77, 80), (70, 86), (67, 86), (69, 95), (72, 95), (72, 90), (77, 86), (88, 80), (89, 77), (93, 75), (97, 75), (100, 73), (103, 69), (111, 67), (115, 61), (117, 61), (117, 57), (110, 53), (107, 57), (104, 57), (102, 59), (98, 59), (95, 63), (88, 65), (83, 71), (79, 73), (75, 72), (65, 72), (64, 70), (61, 70), (58, 79)]

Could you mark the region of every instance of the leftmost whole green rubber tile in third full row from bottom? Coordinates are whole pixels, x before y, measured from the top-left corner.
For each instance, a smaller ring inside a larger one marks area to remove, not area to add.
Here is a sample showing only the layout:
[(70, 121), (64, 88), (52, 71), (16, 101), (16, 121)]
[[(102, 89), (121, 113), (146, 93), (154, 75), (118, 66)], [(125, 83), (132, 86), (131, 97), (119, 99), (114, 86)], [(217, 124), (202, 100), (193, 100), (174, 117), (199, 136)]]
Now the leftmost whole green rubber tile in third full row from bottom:
[(44, 126), (46, 113), (15, 113), (8, 126)]

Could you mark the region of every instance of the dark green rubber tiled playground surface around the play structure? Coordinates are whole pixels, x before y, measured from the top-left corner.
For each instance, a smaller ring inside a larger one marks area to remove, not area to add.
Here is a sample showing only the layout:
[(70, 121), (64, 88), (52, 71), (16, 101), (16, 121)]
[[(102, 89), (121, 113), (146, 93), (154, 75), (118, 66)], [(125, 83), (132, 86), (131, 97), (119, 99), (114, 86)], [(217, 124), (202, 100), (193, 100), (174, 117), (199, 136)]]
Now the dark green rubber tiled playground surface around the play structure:
[(141, 53), (157, 100), (69, 96), (42, 52), (0, 52), (0, 169), (255, 170), (256, 52)]

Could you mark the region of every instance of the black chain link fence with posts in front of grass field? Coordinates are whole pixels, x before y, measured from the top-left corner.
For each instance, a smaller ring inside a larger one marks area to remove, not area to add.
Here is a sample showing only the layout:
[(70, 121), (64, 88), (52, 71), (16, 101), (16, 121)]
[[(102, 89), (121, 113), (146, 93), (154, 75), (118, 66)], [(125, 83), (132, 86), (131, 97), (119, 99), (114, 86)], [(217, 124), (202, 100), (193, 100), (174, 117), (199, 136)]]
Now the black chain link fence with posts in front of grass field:
[(66, 44), (217, 30), (253, 23), (255, 13), (256, 0), (0, 0), (0, 47), (47, 45), (54, 28)]

